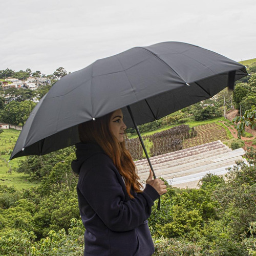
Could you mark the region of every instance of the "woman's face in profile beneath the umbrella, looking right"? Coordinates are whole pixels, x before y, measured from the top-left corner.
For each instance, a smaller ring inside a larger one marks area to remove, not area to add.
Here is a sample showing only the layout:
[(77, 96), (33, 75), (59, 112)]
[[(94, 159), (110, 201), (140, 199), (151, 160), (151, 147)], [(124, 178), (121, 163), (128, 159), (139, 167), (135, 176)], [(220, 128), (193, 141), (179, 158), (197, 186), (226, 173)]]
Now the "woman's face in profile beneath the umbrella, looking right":
[(123, 122), (122, 111), (120, 109), (114, 111), (110, 117), (110, 130), (119, 142), (123, 142), (124, 140), (125, 129), (126, 125)]

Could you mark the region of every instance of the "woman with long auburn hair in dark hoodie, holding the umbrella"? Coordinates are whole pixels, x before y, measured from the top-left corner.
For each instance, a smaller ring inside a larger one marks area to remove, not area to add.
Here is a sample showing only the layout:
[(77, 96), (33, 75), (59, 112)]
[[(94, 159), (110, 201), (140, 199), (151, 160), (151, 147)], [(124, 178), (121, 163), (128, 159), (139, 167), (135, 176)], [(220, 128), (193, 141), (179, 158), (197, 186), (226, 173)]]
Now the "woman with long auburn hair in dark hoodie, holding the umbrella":
[(125, 149), (122, 111), (116, 110), (79, 125), (77, 194), (84, 232), (84, 255), (139, 255), (154, 253), (148, 229), (154, 201), (166, 193), (152, 171), (144, 190), (131, 154)]

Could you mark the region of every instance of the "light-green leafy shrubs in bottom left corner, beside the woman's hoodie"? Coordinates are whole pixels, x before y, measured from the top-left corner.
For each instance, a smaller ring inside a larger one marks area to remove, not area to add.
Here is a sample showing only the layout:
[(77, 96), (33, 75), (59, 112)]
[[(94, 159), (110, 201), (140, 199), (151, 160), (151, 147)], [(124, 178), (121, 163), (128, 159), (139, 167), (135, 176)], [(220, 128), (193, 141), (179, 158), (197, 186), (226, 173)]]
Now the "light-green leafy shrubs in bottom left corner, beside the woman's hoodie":
[(72, 219), (68, 233), (65, 229), (50, 230), (46, 238), (36, 241), (33, 231), (9, 230), (0, 237), (0, 255), (83, 255), (84, 228), (81, 220)]

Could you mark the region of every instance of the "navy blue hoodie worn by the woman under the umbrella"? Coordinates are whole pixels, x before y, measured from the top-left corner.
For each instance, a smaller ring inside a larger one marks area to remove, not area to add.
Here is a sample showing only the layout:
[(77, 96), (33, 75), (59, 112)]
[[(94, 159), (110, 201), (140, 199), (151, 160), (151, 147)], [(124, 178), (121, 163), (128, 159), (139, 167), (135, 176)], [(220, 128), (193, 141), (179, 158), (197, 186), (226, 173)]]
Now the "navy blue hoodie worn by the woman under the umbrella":
[(72, 169), (79, 174), (77, 194), (84, 232), (84, 255), (150, 256), (154, 244), (147, 218), (160, 196), (146, 185), (127, 194), (122, 176), (97, 144), (76, 145)]

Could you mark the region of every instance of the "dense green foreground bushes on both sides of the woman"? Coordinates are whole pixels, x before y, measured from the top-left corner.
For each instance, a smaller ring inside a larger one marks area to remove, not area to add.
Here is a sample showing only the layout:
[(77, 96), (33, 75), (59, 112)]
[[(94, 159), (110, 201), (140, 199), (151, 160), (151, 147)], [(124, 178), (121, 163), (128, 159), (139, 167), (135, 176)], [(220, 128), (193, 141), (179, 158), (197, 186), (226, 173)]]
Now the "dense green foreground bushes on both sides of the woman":
[[(160, 210), (155, 205), (149, 219), (155, 255), (255, 255), (256, 151), (246, 158), (250, 165), (239, 162), (225, 178), (208, 174), (199, 189), (168, 185)], [(53, 168), (65, 173), (65, 162)], [(48, 177), (59, 178), (57, 172)], [(77, 178), (67, 184), (61, 177), (56, 186), (23, 191), (1, 186), (1, 255), (82, 255)]]

